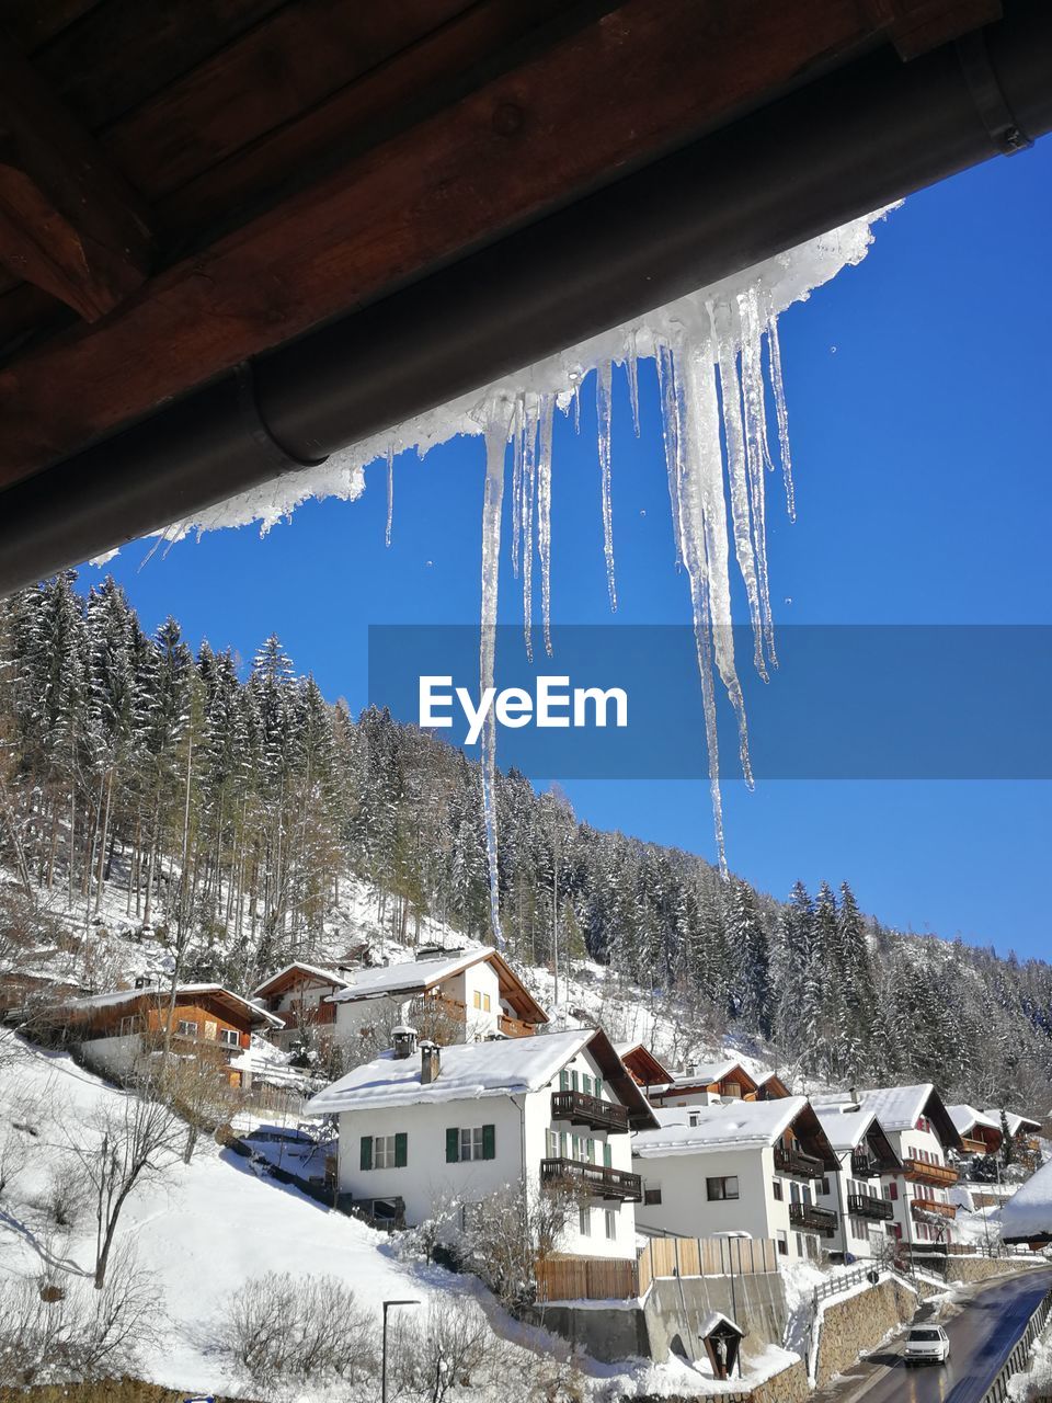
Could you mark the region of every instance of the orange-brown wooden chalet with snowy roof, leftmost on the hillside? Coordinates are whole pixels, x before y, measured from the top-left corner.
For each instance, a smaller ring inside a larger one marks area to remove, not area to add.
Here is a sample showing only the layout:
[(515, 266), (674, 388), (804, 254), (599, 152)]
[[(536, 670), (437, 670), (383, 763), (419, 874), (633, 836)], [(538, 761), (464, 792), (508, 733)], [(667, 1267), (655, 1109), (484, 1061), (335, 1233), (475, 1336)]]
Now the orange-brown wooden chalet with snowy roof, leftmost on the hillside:
[(281, 1026), (279, 1017), (219, 984), (180, 985), (174, 1006), (168, 989), (144, 985), (70, 999), (53, 1013), (55, 1031), (101, 1070), (128, 1072), (167, 1041), (177, 1055), (224, 1066), (230, 1085), (245, 1089), (250, 1078), (230, 1063), (250, 1048), (254, 1033), (271, 1034)]

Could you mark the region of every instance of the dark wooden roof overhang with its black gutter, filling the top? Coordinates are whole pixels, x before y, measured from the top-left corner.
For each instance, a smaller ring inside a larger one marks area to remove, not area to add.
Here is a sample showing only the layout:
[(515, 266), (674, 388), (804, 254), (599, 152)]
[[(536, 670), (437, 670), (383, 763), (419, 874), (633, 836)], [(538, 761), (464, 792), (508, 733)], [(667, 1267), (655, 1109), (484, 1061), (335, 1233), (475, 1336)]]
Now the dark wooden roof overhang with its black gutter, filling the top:
[(0, 593), (1052, 125), (1044, 0), (0, 24)]

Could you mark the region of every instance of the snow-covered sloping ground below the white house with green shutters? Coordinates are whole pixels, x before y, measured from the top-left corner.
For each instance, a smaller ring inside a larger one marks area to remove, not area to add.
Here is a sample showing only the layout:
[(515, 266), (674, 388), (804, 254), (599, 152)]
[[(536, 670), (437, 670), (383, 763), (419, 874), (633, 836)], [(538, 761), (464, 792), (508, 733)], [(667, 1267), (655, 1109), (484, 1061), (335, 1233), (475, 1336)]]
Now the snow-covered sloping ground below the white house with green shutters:
[[(1, 1037), (0, 1051), (0, 1153), (11, 1138), (25, 1146), (0, 1191), (0, 1294), (18, 1278), (83, 1281), (94, 1264), (93, 1208), (81, 1202), (72, 1223), (62, 1228), (49, 1200), (66, 1169), (76, 1164), (73, 1146), (98, 1143), (100, 1113), (118, 1107), (125, 1093), (67, 1056), (10, 1034)], [(426, 1312), (436, 1301), (459, 1296), (483, 1309), (515, 1347), (530, 1344), (550, 1358), (568, 1355), (561, 1341), (505, 1316), (476, 1278), (400, 1257), (391, 1239), (259, 1177), (251, 1162), (208, 1141), (189, 1164), (168, 1156), (164, 1173), (132, 1193), (118, 1243), (133, 1249), (154, 1298), (156, 1333), (140, 1350), (136, 1372), (167, 1388), (259, 1397), (258, 1385), (250, 1388), (220, 1354), (219, 1340), (245, 1282), (269, 1271), (337, 1277), (376, 1320), (384, 1299), (419, 1301)], [(746, 1382), (787, 1362), (784, 1351), (767, 1351)], [(584, 1388), (596, 1400), (637, 1392), (725, 1392), (704, 1369), (677, 1361), (614, 1368), (582, 1360), (579, 1367)], [(471, 1393), (485, 1403), (501, 1396), (497, 1383)], [(297, 1393), (297, 1399), (313, 1403), (314, 1395)]]

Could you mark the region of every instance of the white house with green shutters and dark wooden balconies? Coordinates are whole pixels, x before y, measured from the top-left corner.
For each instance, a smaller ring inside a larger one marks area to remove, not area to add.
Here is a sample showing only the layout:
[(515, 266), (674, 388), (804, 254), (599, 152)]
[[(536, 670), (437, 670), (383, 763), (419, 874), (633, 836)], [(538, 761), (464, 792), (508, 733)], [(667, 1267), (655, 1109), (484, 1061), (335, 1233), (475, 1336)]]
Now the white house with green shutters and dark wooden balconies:
[(398, 1028), (394, 1042), (307, 1107), (337, 1120), (345, 1204), (415, 1226), (450, 1200), (571, 1181), (584, 1198), (561, 1250), (635, 1256), (630, 1138), (656, 1120), (605, 1033), (438, 1048)]

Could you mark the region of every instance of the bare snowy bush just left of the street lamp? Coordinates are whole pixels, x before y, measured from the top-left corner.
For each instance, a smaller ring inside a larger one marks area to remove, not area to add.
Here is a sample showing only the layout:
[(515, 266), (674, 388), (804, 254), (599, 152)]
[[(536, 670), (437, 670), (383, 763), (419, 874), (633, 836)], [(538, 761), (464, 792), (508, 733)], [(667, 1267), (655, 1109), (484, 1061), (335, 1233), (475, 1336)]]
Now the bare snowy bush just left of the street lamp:
[(376, 1369), (376, 1326), (335, 1277), (252, 1277), (216, 1322), (220, 1352), (252, 1383), (355, 1385)]

